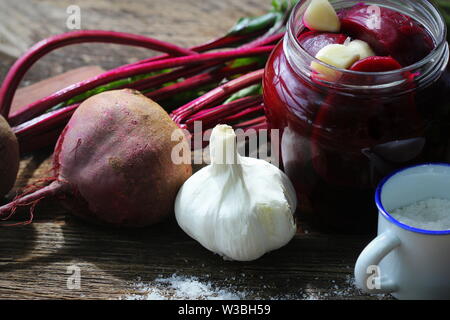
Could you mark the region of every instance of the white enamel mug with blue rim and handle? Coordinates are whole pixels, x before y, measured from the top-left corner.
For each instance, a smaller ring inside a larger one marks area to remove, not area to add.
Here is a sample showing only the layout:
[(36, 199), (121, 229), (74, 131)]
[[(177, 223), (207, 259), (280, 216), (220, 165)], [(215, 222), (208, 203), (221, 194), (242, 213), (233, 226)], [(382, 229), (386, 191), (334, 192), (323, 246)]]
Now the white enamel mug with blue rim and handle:
[(450, 164), (424, 164), (398, 171), (378, 186), (378, 237), (355, 266), (356, 285), (397, 299), (450, 299), (450, 230), (405, 225), (389, 212), (428, 198), (450, 200)]

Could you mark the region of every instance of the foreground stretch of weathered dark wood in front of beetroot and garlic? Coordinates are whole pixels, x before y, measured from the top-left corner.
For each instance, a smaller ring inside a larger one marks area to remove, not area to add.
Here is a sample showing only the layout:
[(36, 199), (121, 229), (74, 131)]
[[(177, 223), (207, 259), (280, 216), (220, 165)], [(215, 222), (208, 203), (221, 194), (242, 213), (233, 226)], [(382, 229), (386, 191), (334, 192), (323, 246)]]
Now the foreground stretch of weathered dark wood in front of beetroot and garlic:
[[(361, 238), (297, 236), (285, 248), (250, 263), (223, 261), (183, 234), (174, 221), (118, 231), (66, 217), (4, 229), (0, 238), (1, 298), (115, 299), (133, 293), (137, 279), (150, 282), (174, 273), (245, 288), (249, 298), (364, 297), (349, 285), (355, 253), (364, 244)], [(80, 290), (67, 289), (71, 265), (81, 268)], [(345, 295), (333, 295), (343, 290)]]

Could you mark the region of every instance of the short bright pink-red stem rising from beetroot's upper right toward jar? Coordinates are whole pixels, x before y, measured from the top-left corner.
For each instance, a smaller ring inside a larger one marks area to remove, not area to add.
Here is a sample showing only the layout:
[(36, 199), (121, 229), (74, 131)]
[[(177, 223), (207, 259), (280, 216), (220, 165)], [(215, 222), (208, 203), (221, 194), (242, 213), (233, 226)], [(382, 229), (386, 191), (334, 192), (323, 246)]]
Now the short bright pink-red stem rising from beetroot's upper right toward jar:
[(242, 77), (239, 77), (237, 79), (231, 80), (178, 108), (172, 113), (172, 119), (176, 123), (182, 123), (185, 119), (193, 115), (195, 112), (210, 107), (213, 104), (229, 97), (233, 93), (260, 82), (263, 74), (264, 69), (260, 69), (243, 75)]

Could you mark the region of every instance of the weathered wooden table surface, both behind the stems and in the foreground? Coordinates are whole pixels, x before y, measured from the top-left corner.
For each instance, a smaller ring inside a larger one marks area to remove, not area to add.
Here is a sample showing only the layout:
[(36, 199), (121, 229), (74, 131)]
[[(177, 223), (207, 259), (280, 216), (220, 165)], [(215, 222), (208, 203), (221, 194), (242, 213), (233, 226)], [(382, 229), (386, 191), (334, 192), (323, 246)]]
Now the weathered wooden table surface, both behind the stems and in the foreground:
[[(265, 12), (270, 1), (3, 0), (0, 79), (33, 43), (67, 31), (66, 9), (73, 4), (81, 8), (83, 29), (140, 33), (187, 47), (223, 34), (239, 17)], [(64, 48), (33, 67), (24, 84), (80, 66), (108, 69), (148, 55), (147, 50), (117, 45)], [(15, 190), (45, 177), (50, 158), (51, 150), (24, 158)], [(355, 260), (370, 238), (299, 234), (258, 261), (228, 262), (190, 239), (175, 221), (143, 230), (112, 230), (91, 226), (57, 203), (44, 201), (33, 224), (0, 232), (0, 298), (119, 299), (142, 294), (136, 282), (152, 285), (155, 278), (176, 273), (245, 291), (250, 299), (389, 299), (364, 295), (351, 284)], [(67, 285), (73, 266), (80, 271), (79, 289)]]

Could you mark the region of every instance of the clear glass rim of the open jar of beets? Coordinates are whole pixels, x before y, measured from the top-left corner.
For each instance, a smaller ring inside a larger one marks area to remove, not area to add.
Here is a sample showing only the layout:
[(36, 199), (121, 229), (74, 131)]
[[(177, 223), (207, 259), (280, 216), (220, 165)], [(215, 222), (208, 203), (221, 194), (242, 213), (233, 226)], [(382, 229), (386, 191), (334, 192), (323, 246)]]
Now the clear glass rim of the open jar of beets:
[[(403, 67), (401, 69), (397, 69), (397, 70), (392, 70), (392, 71), (377, 71), (377, 72), (364, 72), (364, 71), (354, 71), (354, 70), (349, 70), (349, 69), (341, 69), (341, 68), (337, 68), (335, 66), (329, 65), (319, 59), (317, 59), (316, 57), (312, 56), (308, 51), (306, 51), (303, 46), (300, 44), (300, 41), (297, 37), (297, 35), (294, 34), (294, 25), (298, 22), (296, 20), (296, 13), (300, 10), (300, 8), (305, 4), (303, 1), (299, 1), (297, 2), (297, 4), (295, 5), (295, 7), (293, 8), (292, 12), (291, 12), (291, 16), (289, 17), (289, 21), (287, 24), (287, 30), (286, 30), (286, 36), (285, 38), (290, 38), (290, 40), (293, 40), (294, 46), (296, 50), (299, 50), (299, 52), (301, 52), (302, 54), (306, 55), (307, 57), (311, 58), (311, 61), (318, 63), (328, 69), (334, 70), (334, 71), (338, 71), (342, 74), (347, 74), (347, 75), (355, 75), (355, 76), (371, 76), (371, 77), (376, 77), (376, 76), (389, 76), (389, 75), (396, 75), (396, 74), (403, 74), (405, 72), (411, 72), (417, 69), (420, 69), (421, 67), (423, 67), (425, 64), (427, 64), (431, 59), (433, 59), (435, 56), (437, 56), (438, 54), (440, 54), (440, 52), (443, 50), (444, 46), (447, 46), (447, 25), (445, 23), (444, 17), (442, 15), (442, 13), (439, 11), (439, 9), (430, 1), (428, 0), (420, 0), (421, 2), (423, 2), (424, 4), (426, 4), (432, 11), (433, 14), (435, 15), (435, 17), (438, 17), (439, 20), (437, 21), (440, 25), (440, 27), (442, 27), (443, 32), (440, 33), (439, 37), (440, 39), (434, 39), (435, 41), (437, 41), (435, 47), (431, 50), (431, 52), (424, 57), (422, 60)], [(361, 2), (360, 2), (361, 3)], [(368, 4), (370, 4), (370, 1), (367, 1)], [(303, 25), (303, 22), (301, 22), (301, 24)], [(435, 37), (433, 37), (435, 38)], [(291, 41), (292, 42), (292, 41)], [(325, 81), (327, 82), (327, 81)]]

